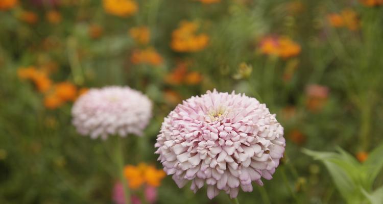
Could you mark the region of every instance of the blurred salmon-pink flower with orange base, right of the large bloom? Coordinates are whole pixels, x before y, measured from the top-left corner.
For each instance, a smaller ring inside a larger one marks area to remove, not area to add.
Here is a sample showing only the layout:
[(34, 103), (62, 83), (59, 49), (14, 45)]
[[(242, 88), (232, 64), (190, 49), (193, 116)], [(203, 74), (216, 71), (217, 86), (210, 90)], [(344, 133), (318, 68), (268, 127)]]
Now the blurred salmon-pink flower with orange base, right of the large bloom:
[(309, 110), (318, 111), (323, 108), (328, 97), (328, 88), (325, 86), (311, 84), (306, 87), (307, 101)]

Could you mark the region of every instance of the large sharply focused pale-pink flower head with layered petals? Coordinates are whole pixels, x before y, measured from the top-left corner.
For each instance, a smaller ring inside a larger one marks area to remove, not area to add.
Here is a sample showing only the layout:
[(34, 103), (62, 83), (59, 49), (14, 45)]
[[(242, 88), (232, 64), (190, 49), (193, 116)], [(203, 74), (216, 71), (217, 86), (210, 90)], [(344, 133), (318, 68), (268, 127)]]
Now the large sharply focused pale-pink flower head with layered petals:
[(283, 157), (283, 127), (265, 104), (245, 94), (207, 91), (178, 105), (162, 123), (156, 154), (178, 187), (207, 185), (212, 199), (220, 190), (234, 198), (239, 187), (253, 190)]

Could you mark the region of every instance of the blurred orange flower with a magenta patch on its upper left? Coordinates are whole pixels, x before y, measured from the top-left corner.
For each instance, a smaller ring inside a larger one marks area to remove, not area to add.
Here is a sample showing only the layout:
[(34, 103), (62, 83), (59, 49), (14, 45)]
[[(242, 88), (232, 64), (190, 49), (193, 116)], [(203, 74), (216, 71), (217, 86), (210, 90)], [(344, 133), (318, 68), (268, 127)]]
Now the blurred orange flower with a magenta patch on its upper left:
[(301, 47), (288, 37), (266, 37), (261, 40), (260, 51), (266, 55), (281, 58), (295, 57), (301, 52)]

